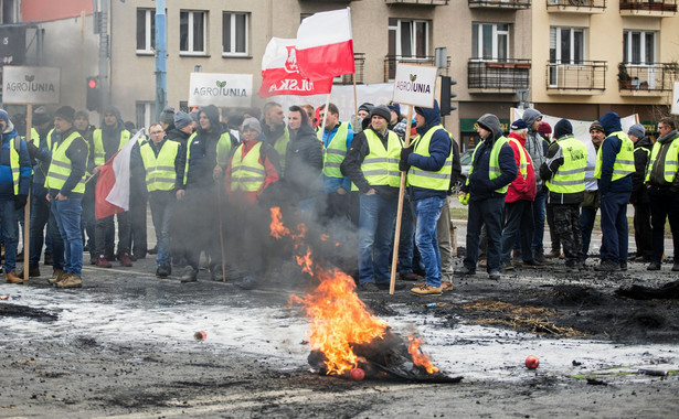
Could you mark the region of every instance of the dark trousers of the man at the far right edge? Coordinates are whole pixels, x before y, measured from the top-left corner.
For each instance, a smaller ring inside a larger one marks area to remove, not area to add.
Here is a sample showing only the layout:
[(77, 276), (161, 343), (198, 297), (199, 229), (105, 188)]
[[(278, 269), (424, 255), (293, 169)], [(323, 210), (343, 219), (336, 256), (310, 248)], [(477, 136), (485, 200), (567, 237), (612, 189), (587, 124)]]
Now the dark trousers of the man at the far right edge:
[(679, 260), (679, 193), (650, 187), (650, 225), (653, 226), (651, 260), (659, 262), (665, 253), (665, 222), (669, 218), (672, 232), (675, 261)]

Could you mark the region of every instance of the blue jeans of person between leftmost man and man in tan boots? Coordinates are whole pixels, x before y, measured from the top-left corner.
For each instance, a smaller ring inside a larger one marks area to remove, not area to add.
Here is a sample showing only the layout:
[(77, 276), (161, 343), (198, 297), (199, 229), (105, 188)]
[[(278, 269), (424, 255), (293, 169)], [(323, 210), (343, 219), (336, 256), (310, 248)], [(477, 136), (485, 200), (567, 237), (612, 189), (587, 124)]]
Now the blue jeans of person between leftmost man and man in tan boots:
[[(52, 237), (50, 234), (50, 203), (45, 200), (47, 192), (44, 189), (40, 190), (35, 186), (33, 187), (34, 192), (31, 193), (31, 255), (29, 257), (29, 267), (31, 268), (39, 266), (43, 240), (46, 245), (47, 238), (50, 238), (52, 246), (46, 246), (45, 251), (52, 251), (53, 258), (56, 257), (55, 254), (64, 254), (64, 241), (61, 235), (57, 234), (56, 237)], [(44, 234), (45, 225), (47, 225), (46, 235)], [(59, 260), (60, 264), (63, 265), (62, 260)], [(62, 265), (59, 266), (60, 269)]]

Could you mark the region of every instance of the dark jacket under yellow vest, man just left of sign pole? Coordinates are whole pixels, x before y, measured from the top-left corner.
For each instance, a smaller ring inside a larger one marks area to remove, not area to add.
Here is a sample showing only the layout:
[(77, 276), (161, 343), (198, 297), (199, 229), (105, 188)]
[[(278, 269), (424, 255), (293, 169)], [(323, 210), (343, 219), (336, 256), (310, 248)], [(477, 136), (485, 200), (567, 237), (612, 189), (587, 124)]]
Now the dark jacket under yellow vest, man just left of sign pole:
[(347, 157), (344, 157), (344, 161), (340, 165), (340, 170), (342, 171), (343, 175), (348, 176), (351, 182), (353, 182), (353, 184), (359, 189), (359, 192), (363, 194), (373, 189), (380, 196), (386, 200), (397, 197), (397, 187), (392, 187), (389, 185), (371, 186), (365, 180), (365, 176), (363, 175), (361, 164), (363, 164), (363, 160), (365, 159), (365, 157), (370, 154), (370, 147), (368, 143), (368, 139), (365, 138), (365, 131), (368, 130), (373, 131), (378, 136), (378, 138), (382, 141), (382, 144), (384, 144), (385, 150), (389, 149), (388, 137), (390, 131), (386, 130), (384, 132), (384, 136), (382, 136), (379, 131), (374, 131), (372, 127), (369, 127), (353, 137), (353, 141), (351, 141), (351, 147), (349, 148), (349, 150), (347, 150)]

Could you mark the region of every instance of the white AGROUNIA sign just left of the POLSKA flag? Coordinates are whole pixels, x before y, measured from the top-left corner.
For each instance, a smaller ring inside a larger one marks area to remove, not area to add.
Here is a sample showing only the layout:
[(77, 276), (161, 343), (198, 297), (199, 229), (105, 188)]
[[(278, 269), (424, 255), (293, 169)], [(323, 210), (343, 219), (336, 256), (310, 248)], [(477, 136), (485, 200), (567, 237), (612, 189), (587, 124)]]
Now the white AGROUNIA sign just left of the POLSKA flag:
[(189, 106), (252, 106), (252, 74), (191, 73)]

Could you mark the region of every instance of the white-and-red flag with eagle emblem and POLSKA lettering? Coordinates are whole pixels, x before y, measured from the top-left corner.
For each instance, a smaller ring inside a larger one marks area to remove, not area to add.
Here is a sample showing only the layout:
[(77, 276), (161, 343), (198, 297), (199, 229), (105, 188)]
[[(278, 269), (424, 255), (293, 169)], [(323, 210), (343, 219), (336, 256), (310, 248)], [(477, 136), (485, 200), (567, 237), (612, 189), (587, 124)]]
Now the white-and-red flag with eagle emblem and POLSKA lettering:
[(332, 77), (310, 80), (299, 73), (295, 43), (296, 40), (272, 37), (266, 45), (262, 57), (259, 97), (320, 95), (332, 89)]

